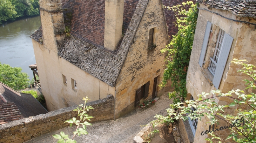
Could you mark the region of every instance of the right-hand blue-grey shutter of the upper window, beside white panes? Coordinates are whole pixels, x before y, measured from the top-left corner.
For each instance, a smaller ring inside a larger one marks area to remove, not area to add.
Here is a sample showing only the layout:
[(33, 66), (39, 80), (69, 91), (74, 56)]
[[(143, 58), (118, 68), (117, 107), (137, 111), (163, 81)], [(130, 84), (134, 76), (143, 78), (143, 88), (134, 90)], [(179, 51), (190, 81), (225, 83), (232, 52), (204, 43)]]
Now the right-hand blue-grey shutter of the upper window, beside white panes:
[(227, 33), (224, 35), (223, 45), (221, 47), (220, 58), (218, 59), (218, 65), (216, 66), (215, 75), (213, 78), (213, 85), (216, 89), (219, 88), (221, 83), (221, 78), (228, 60), (228, 55), (230, 48), (232, 46), (233, 38)]

